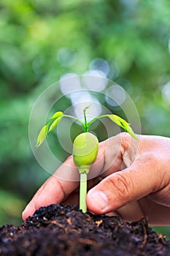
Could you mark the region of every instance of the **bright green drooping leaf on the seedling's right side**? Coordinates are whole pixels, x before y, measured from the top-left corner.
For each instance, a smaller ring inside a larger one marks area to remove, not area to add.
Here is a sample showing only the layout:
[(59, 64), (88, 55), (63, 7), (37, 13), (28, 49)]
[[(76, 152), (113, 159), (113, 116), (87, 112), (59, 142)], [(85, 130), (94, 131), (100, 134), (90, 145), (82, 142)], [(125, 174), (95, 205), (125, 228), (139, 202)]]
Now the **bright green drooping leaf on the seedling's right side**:
[(117, 115), (108, 115), (108, 117), (118, 126), (122, 127), (123, 129), (125, 129), (125, 132), (128, 132), (133, 138), (135, 138), (136, 140), (138, 140), (138, 138), (136, 137), (133, 129), (131, 129), (131, 125), (128, 124), (127, 121), (125, 121), (123, 118), (121, 118), (120, 116)]

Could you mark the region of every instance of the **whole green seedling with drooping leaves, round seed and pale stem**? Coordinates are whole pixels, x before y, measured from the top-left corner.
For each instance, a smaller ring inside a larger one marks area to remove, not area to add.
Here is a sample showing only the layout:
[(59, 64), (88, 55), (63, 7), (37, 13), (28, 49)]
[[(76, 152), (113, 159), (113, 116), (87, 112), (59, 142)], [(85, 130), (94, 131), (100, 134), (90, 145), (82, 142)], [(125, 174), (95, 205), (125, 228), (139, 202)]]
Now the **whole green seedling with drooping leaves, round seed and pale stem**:
[(96, 135), (93, 135), (93, 133), (89, 132), (90, 125), (99, 118), (107, 117), (115, 124), (122, 127), (126, 132), (128, 132), (133, 138), (137, 140), (136, 135), (131, 129), (130, 124), (128, 124), (127, 121), (115, 114), (98, 116), (88, 122), (85, 114), (88, 108), (89, 106), (83, 110), (85, 120), (84, 122), (80, 121), (80, 119), (75, 118), (74, 116), (65, 115), (61, 111), (56, 112), (50, 118), (50, 121), (44, 127), (42, 127), (36, 143), (36, 147), (39, 147), (47, 137), (48, 133), (53, 131), (53, 129), (57, 127), (58, 123), (63, 117), (72, 118), (74, 119), (74, 121), (78, 121), (82, 125), (82, 127), (84, 128), (84, 132), (78, 135), (74, 139), (73, 143), (73, 160), (80, 173), (80, 209), (82, 209), (82, 212), (87, 211), (87, 176), (90, 170), (90, 166), (93, 164), (93, 162), (95, 162), (98, 154), (98, 138), (96, 137)]

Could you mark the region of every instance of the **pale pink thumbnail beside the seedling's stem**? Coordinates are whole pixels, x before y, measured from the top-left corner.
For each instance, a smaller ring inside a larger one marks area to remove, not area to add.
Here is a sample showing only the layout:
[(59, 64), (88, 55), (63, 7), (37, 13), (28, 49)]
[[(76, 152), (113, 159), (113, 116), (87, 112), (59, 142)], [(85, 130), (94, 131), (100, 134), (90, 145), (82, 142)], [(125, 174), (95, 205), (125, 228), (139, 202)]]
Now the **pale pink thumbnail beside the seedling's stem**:
[(101, 192), (89, 192), (91, 199), (93, 200), (93, 206), (96, 206), (96, 208), (100, 208), (101, 211), (104, 211), (105, 208), (107, 208), (109, 202), (107, 200), (107, 196)]

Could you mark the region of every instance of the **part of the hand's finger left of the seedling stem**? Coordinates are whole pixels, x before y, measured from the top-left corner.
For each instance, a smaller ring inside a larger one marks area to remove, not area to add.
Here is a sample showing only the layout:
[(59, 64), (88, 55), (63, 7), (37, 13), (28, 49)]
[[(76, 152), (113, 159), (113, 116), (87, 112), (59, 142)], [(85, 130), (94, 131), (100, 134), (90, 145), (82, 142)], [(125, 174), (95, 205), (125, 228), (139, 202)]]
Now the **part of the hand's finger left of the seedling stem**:
[(72, 157), (69, 157), (36, 192), (23, 211), (23, 220), (34, 214), (34, 211), (41, 206), (61, 203), (79, 186), (77, 175), (77, 168), (74, 166)]

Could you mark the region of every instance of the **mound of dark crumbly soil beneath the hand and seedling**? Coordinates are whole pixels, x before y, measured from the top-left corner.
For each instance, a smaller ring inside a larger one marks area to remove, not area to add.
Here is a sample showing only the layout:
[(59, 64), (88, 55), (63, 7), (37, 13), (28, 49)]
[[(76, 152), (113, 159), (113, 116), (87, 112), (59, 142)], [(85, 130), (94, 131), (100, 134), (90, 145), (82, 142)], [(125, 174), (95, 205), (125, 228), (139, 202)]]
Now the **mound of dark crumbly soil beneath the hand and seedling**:
[(37, 210), (19, 227), (0, 227), (0, 255), (170, 255), (170, 242), (148, 227), (146, 219), (82, 214), (77, 206)]

